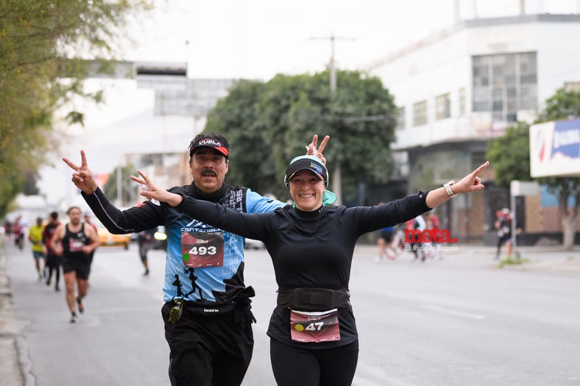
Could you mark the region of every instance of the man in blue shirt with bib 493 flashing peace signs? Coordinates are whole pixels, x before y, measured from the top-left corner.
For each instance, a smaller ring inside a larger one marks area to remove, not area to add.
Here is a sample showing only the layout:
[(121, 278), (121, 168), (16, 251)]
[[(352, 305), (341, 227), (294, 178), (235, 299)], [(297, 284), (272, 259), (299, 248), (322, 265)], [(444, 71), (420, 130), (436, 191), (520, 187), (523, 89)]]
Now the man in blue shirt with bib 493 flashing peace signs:
[[(318, 136), (314, 136), (308, 153), (316, 153), (326, 162), (322, 151), (328, 140), (327, 136), (316, 149)], [(286, 205), (245, 186), (226, 184), (230, 150), (220, 133), (196, 136), (187, 147), (193, 181), (171, 191), (245, 213), (266, 213)], [(72, 182), (111, 233), (138, 233), (165, 226), (165, 304), (161, 314), (170, 350), (171, 384), (239, 386), (251, 359), (251, 323), (255, 321), (250, 310), (253, 288), (244, 283), (244, 238), (179, 213), (165, 203), (146, 201), (120, 211), (97, 186), (83, 150), (80, 165), (68, 158), (63, 161), (74, 170)]]

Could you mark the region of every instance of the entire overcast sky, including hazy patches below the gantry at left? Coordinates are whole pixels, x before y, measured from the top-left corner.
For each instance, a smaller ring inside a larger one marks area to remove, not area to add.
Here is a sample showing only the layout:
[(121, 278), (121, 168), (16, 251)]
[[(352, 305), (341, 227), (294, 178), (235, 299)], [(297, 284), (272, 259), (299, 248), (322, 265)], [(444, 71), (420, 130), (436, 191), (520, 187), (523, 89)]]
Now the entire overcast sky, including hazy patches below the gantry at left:
[[(457, 0), (462, 19), (515, 15), (520, 0)], [(364, 69), (373, 62), (451, 28), (456, 0), (155, 0), (156, 9), (139, 17), (131, 28), (137, 45), (123, 50), (130, 61), (187, 62), (189, 78), (256, 78), (264, 81), (278, 73), (302, 74), (324, 70), (334, 56), (340, 69)], [(526, 0), (528, 13), (578, 12), (580, 0)], [(61, 156), (79, 158), (85, 149), (94, 172), (111, 171), (130, 137), (118, 122), (131, 122), (152, 109), (152, 90), (136, 89), (134, 81), (96, 81), (105, 87), (107, 104), (98, 108), (80, 104), (87, 113), (86, 127), (74, 127), (74, 138)], [(123, 123), (126, 125), (126, 123)], [(107, 129), (108, 128), (108, 129)], [(132, 128), (134, 131), (134, 128)], [(116, 130), (116, 131), (115, 131)], [(110, 134), (112, 132), (112, 134)], [(116, 135), (118, 134), (118, 135)], [(133, 136), (149, 136), (145, 131)], [(189, 136), (189, 132), (185, 135)], [(111, 142), (103, 142), (107, 138)], [(187, 146), (190, 138), (184, 138)], [(114, 142), (116, 141), (116, 142)], [(139, 142), (141, 143), (141, 142)], [(172, 150), (172, 149), (166, 149)], [(45, 168), (41, 189), (49, 200), (70, 196), (62, 184), (70, 171)], [(70, 198), (67, 198), (70, 202)]]

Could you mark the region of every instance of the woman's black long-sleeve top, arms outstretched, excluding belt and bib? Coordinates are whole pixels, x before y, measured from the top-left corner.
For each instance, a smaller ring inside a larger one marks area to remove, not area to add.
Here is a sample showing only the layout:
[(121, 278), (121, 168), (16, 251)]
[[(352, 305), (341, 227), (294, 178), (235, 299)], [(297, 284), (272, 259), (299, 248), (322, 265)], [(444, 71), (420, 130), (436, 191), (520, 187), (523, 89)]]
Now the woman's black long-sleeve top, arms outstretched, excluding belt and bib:
[[(293, 288), (349, 288), (355, 244), (364, 233), (394, 226), (431, 210), (427, 192), (380, 206), (322, 206), (304, 212), (285, 206), (273, 213), (240, 213), (220, 204), (183, 197), (178, 211), (223, 230), (264, 242), (279, 290)], [(351, 308), (339, 310), (340, 341), (297, 343), (290, 339), (289, 310), (273, 311), (268, 335), (287, 344), (326, 348), (357, 339)]]

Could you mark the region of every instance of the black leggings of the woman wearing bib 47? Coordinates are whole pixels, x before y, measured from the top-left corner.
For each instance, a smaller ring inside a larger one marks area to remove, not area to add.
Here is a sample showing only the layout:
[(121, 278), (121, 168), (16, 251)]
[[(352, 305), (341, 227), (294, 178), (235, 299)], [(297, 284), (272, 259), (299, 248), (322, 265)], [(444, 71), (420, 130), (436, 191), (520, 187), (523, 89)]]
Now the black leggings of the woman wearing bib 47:
[(270, 359), (278, 386), (351, 386), (358, 362), (358, 339), (327, 349), (296, 347), (270, 339)]

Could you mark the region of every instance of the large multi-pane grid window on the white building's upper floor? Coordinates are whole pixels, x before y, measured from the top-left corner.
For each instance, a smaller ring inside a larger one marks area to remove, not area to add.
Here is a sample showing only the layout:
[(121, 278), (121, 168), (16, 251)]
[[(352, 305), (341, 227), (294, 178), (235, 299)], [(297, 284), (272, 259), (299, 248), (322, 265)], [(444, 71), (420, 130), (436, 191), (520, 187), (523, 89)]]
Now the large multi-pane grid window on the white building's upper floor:
[(537, 107), (536, 53), (473, 56), (473, 111), (515, 122), (518, 110)]

